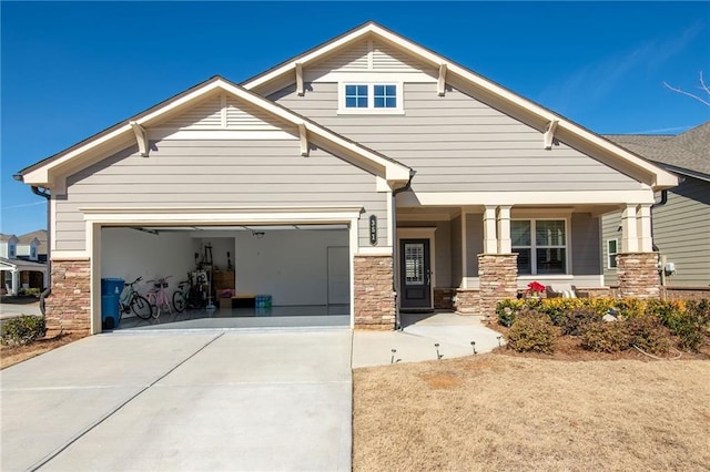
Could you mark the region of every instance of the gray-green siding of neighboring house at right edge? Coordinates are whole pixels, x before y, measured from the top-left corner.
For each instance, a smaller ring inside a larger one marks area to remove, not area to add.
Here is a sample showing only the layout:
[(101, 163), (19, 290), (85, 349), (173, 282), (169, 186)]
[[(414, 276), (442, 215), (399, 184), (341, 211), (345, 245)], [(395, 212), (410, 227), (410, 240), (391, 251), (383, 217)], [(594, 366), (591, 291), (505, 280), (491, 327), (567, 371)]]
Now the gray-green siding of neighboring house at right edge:
[[(668, 203), (653, 208), (652, 222), (653, 243), (660, 255), (676, 264), (668, 285), (710, 285), (710, 183), (684, 176), (684, 182), (668, 192)], [(605, 257), (607, 239), (618, 238), (621, 248), (621, 232), (617, 232), (620, 225), (620, 213), (604, 217)], [(617, 285), (616, 269), (605, 266), (605, 283)]]

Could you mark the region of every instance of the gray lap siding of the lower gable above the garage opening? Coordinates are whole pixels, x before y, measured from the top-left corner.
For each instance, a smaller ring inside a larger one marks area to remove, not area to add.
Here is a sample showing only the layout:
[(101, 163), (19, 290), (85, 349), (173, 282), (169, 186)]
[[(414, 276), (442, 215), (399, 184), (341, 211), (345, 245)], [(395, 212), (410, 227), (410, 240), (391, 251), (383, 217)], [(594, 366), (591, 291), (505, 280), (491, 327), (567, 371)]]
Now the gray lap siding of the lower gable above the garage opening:
[(135, 146), (67, 181), (57, 201), (57, 245), (84, 249), (81, 207), (363, 206), (359, 244), (369, 246), (367, 219), (377, 215), (387, 244), (387, 194), (375, 177), (324, 151), (301, 156), (298, 141), (160, 141), (150, 157)]

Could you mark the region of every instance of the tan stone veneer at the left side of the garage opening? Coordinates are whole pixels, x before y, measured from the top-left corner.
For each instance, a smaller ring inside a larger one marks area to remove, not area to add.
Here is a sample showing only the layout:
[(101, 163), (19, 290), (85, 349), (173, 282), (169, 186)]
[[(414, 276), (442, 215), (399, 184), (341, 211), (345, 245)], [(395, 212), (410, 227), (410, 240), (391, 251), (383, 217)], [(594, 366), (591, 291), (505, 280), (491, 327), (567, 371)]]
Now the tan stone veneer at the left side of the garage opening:
[(91, 334), (91, 267), (88, 259), (52, 260), (52, 294), (44, 299), (47, 336)]

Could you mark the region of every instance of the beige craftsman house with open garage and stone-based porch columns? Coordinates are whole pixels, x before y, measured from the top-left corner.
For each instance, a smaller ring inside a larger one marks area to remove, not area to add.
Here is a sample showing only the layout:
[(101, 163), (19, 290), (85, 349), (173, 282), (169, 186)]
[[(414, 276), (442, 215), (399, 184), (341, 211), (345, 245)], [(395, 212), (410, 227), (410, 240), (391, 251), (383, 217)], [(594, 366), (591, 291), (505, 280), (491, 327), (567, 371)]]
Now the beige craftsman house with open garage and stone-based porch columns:
[(51, 194), (48, 325), (85, 332), (102, 278), (195, 267), (357, 328), (488, 315), (532, 280), (606, 293), (601, 216), (617, 211), (620, 291), (658, 297), (651, 205), (678, 184), (374, 22), (241, 84), (213, 76), (20, 176)]

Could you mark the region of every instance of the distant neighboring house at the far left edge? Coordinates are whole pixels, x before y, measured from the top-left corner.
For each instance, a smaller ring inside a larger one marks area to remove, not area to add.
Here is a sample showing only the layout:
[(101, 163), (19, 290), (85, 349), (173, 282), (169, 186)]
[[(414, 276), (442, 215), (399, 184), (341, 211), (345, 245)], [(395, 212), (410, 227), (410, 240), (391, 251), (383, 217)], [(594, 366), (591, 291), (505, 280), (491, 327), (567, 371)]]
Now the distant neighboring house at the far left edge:
[[(37, 250), (40, 243), (37, 238), (18, 238), (16, 235), (0, 234), (0, 274), (2, 294), (18, 296), (20, 288), (38, 288), (42, 290), (49, 285), (47, 264), (40, 263)], [(24, 252), (32, 254), (34, 260), (22, 257)]]

